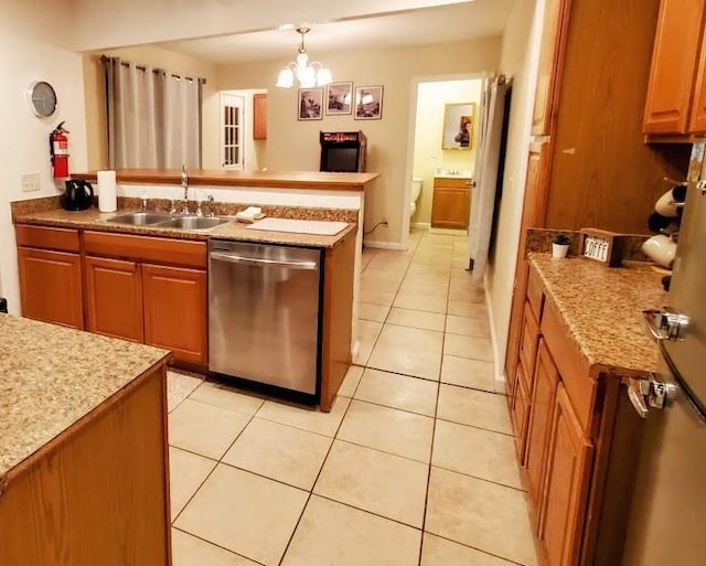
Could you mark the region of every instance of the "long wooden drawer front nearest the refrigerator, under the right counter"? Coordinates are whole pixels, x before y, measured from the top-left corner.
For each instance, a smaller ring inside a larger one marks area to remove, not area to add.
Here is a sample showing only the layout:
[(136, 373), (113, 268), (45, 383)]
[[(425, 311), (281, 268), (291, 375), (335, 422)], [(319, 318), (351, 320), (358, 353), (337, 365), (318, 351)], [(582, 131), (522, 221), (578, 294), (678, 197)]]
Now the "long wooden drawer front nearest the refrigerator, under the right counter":
[(597, 386), (596, 381), (588, 374), (588, 363), (579, 353), (552, 302), (547, 302), (544, 307), (541, 328), (576, 417), (584, 431), (590, 434)]

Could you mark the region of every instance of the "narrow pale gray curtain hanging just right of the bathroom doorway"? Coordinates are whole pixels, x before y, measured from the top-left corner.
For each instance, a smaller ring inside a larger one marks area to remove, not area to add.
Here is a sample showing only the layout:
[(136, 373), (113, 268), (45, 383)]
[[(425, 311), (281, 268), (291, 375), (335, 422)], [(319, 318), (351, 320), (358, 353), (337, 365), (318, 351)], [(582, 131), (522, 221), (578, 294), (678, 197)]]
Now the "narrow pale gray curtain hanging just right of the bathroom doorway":
[(480, 121), (479, 158), (475, 165), (475, 189), (471, 204), (469, 226), (469, 267), (473, 277), (483, 277), (493, 228), (495, 191), (503, 141), (505, 96), (510, 84), (504, 77), (494, 78), (483, 93)]

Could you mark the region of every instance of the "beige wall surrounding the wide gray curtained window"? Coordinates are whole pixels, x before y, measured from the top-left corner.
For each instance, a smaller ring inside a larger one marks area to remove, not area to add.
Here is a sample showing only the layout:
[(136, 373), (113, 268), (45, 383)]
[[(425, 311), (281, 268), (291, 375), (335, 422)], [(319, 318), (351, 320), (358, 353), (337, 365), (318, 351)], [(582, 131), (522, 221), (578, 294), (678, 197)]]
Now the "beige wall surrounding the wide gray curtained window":
[(105, 114), (105, 79), (100, 55), (121, 57), (138, 65), (163, 68), (170, 73), (201, 77), (203, 85), (203, 168), (218, 165), (217, 137), (211, 132), (220, 130), (220, 95), (216, 88), (216, 66), (199, 58), (174, 53), (160, 47), (139, 46), (105, 50), (100, 53), (84, 54), (84, 96), (86, 99), (86, 128), (88, 135), (88, 169), (108, 167), (107, 122)]

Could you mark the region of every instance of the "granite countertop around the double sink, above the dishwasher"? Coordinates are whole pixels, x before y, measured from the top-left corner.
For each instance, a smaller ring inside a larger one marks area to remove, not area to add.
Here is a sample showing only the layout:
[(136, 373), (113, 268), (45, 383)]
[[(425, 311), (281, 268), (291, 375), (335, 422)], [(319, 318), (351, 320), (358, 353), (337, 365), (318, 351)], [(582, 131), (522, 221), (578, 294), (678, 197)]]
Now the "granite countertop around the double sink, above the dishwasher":
[(85, 211), (65, 211), (54, 209), (42, 212), (31, 212), (17, 214), (15, 224), (35, 224), (42, 226), (56, 226), (64, 228), (95, 229), (100, 232), (115, 232), (121, 234), (136, 234), (143, 236), (161, 236), (182, 239), (202, 239), (211, 237), (237, 239), (242, 242), (259, 242), (265, 244), (284, 244), (310, 247), (333, 247), (347, 234), (355, 229), (355, 224), (349, 226), (334, 236), (319, 236), (314, 234), (298, 234), (289, 232), (270, 232), (260, 229), (247, 229), (247, 224), (231, 221), (206, 232), (195, 232), (175, 228), (160, 228), (157, 226), (133, 226), (130, 224), (118, 224), (108, 222), (108, 218), (137, 212), (130, 210), (118, 210), (117, 212), (99, 212), (98, 209), (87, 209)]

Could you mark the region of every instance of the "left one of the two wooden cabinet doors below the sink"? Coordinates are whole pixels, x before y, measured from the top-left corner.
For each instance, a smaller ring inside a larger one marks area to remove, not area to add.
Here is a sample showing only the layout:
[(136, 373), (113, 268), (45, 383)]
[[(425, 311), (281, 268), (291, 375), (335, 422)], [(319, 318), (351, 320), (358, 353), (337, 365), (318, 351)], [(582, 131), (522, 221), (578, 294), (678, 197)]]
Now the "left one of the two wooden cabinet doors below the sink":
[(87, 330), (142, 342), (142, 284), (135, 261), (86, 257)]

